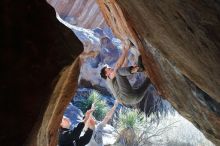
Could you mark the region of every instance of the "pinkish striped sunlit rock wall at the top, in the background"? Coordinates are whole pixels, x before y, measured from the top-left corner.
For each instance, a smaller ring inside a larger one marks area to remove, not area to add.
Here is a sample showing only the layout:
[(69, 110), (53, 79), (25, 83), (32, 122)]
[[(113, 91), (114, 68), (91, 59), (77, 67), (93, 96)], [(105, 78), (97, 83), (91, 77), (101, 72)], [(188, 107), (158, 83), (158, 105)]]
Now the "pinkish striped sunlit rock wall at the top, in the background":
[(68, 23), (93, 29), (106, 27), (105, 20), (96, 0), (47, 0), (60, 17)]

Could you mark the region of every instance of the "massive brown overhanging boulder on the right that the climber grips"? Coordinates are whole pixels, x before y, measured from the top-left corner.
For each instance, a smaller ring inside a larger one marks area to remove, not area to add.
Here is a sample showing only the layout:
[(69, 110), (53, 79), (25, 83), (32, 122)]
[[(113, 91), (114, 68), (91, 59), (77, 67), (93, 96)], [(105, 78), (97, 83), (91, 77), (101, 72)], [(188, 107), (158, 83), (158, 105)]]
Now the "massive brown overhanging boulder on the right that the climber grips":
[(98, 0), (114, 34), (140, 49), (162, 96), (220, 145), (220, 4)]

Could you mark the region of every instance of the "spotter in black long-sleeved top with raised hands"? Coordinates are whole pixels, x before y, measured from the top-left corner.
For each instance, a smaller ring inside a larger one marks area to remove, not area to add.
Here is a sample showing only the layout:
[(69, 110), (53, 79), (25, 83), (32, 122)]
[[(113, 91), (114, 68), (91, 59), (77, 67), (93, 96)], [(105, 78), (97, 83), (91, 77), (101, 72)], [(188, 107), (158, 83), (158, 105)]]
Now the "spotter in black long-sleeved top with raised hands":
[[(88, 110), (85, 114), (84, 120), (72, 130), (69, 129), (71, 125), (70, 120), (63, 116), (59, 129), (59, 146), (85, 146), (89, 143), (96, 123), (95, 120), (90, 116), (93, 111), (93, 109)], [(88, 129), (86, 130), (85, 134), (80, 137), (85, 123), (88, 124)]]

